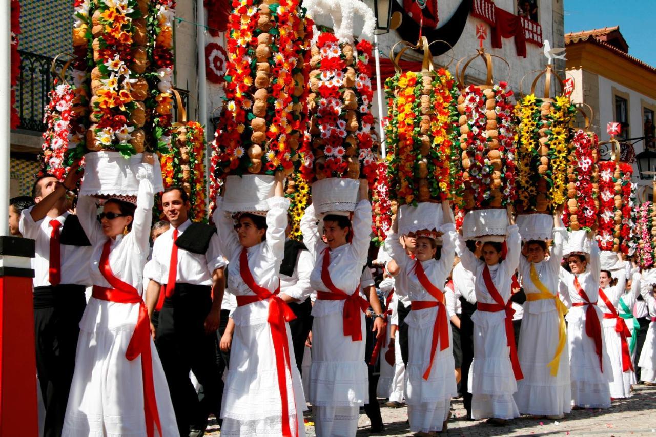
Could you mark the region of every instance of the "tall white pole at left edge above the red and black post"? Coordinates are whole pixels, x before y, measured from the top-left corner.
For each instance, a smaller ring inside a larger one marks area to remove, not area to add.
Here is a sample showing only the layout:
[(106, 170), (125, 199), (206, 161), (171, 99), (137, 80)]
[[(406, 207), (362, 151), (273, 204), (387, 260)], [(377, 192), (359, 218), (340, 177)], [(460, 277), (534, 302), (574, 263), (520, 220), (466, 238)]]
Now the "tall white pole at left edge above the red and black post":
[[(0, 1), (0, 211), (9, 211), (9, 148), (11, 144), (11, 6)], [(3, 24), (4, 23), (4, 24)], [(0, 220), (0, 235), (9, 235), (9, 221)]]

